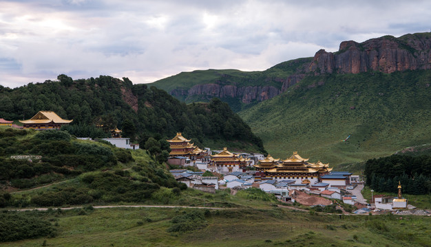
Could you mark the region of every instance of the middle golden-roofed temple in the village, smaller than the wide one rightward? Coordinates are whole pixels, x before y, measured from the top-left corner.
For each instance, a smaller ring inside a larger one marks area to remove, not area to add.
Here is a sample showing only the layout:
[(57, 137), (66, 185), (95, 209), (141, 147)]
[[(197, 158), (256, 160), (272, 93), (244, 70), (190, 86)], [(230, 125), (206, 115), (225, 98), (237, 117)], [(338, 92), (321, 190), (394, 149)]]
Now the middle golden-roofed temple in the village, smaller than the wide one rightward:
[(227, 148), (223, 148), (223, 151), (218, 154), (211, 155), (211, 165), (215, 165), (221, 174), (242, 172), (242, 169), (248, 166), (249, 162), (248, 158), (232, 154)]

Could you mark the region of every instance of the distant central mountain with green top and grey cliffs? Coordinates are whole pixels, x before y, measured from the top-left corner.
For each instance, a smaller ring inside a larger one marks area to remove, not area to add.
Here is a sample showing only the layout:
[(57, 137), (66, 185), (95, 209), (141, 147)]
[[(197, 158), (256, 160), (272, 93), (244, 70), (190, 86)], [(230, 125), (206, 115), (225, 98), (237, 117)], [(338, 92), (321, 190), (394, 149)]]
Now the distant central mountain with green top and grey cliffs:
[(233, 110), (239, 111), (282, 93), (295, 80), (287, 78), (311, 60), (312, 58), (300, 58), (282, 62), (266, 71), (209, 69), (182, 72), (150, 85), (187, 103), (208, 102), (213, 97), (218, 97), (228, 102)]

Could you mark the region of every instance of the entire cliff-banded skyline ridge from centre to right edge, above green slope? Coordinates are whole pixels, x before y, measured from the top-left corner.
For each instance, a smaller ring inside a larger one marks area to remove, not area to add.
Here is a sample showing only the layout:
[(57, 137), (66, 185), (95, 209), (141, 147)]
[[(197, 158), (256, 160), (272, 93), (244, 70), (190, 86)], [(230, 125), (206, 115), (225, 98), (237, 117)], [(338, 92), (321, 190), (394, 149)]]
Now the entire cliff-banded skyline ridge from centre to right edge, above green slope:
[(182, 72), (154, 82), (185, 102), (207, 102), (219, 97), (235, 111), (283, 93), (306, 76), (326, 73), (392, 73), (431, 68), (431, 33), (383, 36), (363, 43), (344, 41), (339, 51), (324, 49), (313, 58), (282, 62), (266, 71), (214, 70)]

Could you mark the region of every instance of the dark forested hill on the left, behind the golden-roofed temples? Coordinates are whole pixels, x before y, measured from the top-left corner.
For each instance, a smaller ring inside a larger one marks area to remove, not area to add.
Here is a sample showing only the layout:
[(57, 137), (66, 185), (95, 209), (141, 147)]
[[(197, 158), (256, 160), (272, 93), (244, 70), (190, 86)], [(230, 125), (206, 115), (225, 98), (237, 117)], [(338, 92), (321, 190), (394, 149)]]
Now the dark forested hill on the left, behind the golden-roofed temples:
[(94, 127), (97, 124), (105, 131), (118, 127), (142, 146), (149, 137), (166, 139), (182, 132), (201, 148), (229, 146), (265, 152), (249, 126), (219, 99), (187, 105), (154, 86), (134, 85), (128, 78), (101, 75), (72, 80), (59, 75), (57, 81), (17, 89), (0, 86), (0, 116), (4, 119), (28, 119), (39, 110), (53, 110), (63, 119), (73, 119), (67, 130), (79, 137), (101, 137)]

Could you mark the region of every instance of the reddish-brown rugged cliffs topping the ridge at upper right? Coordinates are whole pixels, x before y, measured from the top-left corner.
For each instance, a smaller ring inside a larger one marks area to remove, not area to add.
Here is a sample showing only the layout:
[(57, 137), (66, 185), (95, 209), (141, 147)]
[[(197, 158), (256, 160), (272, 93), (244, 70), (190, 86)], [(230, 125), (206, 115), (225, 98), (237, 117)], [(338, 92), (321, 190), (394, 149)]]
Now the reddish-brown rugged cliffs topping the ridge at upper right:
[(305, 70), (319, 75), (431, 69), (430, 47), (430, 34), (408, 34), (400, 38), (383, 36), (364, 43), (344, 41), (336, 53), (324, 49), (317, 51)]

